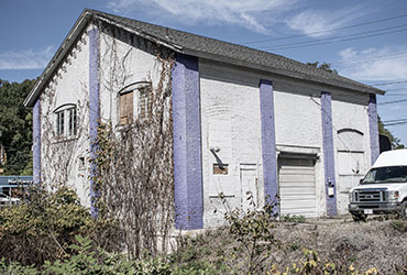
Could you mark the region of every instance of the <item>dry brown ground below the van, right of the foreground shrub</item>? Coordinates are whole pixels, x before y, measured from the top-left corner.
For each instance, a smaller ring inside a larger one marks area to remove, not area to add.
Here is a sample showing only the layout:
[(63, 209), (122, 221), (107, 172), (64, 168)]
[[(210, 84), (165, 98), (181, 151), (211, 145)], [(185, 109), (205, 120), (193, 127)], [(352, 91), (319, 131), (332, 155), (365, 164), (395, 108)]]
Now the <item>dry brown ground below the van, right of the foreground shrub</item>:
[(276, 262), (288, 266), (302, 253), (314, 249), (324, 260), (353, 264), (359, 271), (376, 267), (381, 274), (395, 274), (407, 256), (407, 232), (394, 229), (393, 221), (279, 223), (276, 235), (289, 253), (276, 253)]

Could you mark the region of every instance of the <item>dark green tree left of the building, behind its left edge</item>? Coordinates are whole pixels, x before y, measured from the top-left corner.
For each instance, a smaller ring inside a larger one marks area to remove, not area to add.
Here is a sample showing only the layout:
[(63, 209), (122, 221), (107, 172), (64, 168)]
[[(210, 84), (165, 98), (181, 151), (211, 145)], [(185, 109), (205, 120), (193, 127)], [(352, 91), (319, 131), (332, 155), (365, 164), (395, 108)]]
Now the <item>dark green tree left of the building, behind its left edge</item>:
[(32, 175), (32, 110), (23, 101), (35, 80), (0, 79), (0, 144), (7, 154), (4, 175)]

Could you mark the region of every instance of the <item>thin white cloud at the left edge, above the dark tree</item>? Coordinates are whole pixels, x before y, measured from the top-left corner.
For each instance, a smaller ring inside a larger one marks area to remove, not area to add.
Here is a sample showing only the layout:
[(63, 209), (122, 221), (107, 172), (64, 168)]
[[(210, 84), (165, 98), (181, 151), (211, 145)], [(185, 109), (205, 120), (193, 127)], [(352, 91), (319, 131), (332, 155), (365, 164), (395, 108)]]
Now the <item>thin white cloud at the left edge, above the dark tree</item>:
[(0, 70), (6, 69), (42, 69), (53, 56), (53, 47), (44, 51), (33, 52), (32, 50), (22, 52), (7, 52), (0, 54)]

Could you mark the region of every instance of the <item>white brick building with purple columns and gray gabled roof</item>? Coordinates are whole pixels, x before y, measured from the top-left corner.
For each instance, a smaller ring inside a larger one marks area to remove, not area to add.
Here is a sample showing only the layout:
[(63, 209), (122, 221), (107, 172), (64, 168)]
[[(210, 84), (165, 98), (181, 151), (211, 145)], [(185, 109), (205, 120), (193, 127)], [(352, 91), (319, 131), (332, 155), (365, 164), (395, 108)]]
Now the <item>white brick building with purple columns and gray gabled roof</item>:
[(346, 191), (378, 155), (383, 90), (94, 10), (82, 12), (25, 100), (34, 108), (34, 180), (69, 183), (89, 206), (97, 125), (117, 129), (154, 113), (146, 87), (158, 88), (162, 55), (175, 59), (166, 119), (176, 228), (219, 224), (220, 193), (232, 207), (249, 207), (248, 190), (260, 205), (278, 195), (280, 215), (346, 212)]

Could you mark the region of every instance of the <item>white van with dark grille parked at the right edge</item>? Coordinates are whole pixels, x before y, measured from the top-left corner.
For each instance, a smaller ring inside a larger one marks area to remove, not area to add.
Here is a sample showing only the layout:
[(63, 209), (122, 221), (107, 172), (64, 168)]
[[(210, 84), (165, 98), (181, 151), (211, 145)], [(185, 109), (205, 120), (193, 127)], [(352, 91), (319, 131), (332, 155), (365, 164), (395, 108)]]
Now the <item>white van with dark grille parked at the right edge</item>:
[(398, 213), (407, 219), (407, 148), (383, 152), (359, 186), (349, 193), (354, 220)]

